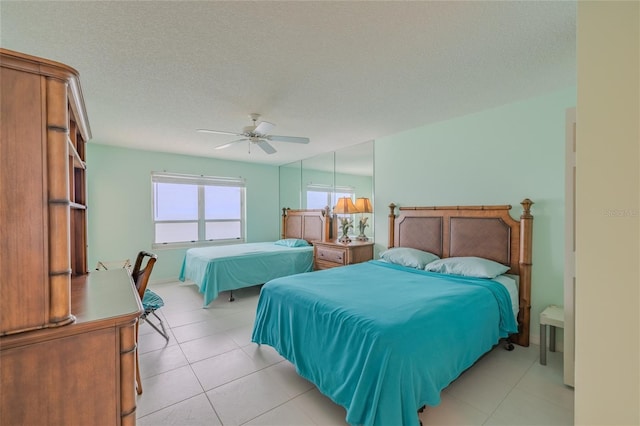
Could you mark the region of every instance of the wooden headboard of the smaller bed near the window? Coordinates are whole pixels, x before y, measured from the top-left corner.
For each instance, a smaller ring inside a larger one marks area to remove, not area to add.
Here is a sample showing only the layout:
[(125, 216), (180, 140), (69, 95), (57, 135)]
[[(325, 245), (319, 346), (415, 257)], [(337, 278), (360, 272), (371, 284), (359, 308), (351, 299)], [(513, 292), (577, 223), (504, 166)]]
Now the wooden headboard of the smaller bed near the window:
[(329, 209), (282, 209), (282, 238), (300, 238), (310, 243), (329, 241), (331, 217)]

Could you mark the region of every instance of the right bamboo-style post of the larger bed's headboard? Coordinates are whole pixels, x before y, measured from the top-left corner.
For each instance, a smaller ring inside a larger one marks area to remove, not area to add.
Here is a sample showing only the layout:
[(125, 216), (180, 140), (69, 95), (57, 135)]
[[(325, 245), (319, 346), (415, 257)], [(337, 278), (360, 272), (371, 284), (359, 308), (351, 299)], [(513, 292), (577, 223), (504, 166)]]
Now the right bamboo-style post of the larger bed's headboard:
[(529, 323), (531, 316), (531, 266), (532, 249), (531, 241), (533, 237), (533, 216), (531, 206), (533, 201), (525, 198), (522, 204), (522, 215), (520, 216), (520, 313), (518, 322), (522, 329), (519, 330), (517, 344), (529, 346)]

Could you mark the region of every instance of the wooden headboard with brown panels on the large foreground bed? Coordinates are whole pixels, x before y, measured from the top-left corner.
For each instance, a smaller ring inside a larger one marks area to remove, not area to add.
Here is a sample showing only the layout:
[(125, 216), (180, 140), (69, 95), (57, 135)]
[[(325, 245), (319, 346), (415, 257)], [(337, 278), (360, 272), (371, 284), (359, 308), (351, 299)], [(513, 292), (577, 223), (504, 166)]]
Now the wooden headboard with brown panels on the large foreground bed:
[(520, 220), (510, 205), (400, 207), (389, 205), (389, 248), (412, 247), (441, 258), (476, 256), (509, 266), (520, 276), (518, 334), (513, 343), (529, 346), (531, 311), (531, 240), (533, 202), (522, 201)]

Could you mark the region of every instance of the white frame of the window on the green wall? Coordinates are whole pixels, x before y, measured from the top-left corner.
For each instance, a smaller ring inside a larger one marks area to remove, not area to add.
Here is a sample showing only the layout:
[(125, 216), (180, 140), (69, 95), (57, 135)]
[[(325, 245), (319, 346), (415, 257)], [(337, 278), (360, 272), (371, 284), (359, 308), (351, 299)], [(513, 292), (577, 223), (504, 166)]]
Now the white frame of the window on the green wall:
[[(179, 184), (197, 186), (198, 193), (198, 217), (195, 220), (171, 219), (157, 220), (156, 211), (156, 184)], [(205, 215), (205, 187), (233, 187), (240, 189), (240, 219), (206, 219)], [(153, 249), (177, 249), (204, 247), (224, 244), (241, 244), (246, 242), (246, 183), (242, 177), (220, 177), (204, 175), (188, 175), (169, 172), (151, 172), (151, 222), (152, 222), (152, 244)], [(207, 223), (239, 222), (240, 237), (224, 239), (206, 239)], [(176, 241), (176, 242), (156, 242), (156, 227), (158, 223), (197, 223), (198, 240)]]

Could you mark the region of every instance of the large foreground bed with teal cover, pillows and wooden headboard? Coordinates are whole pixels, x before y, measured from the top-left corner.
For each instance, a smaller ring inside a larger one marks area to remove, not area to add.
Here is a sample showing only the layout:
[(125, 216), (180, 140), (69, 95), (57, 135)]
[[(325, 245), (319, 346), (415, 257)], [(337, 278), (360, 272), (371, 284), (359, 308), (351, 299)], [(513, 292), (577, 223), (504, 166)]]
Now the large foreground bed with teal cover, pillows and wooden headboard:
[(392, 204), (382, 260), (268, 282), (252, 340), (345, 407), (348, 423), (417, 425), (501, 339), (529, 345), (531, 204), (519, 221), (511, 206), (396, 215)]

